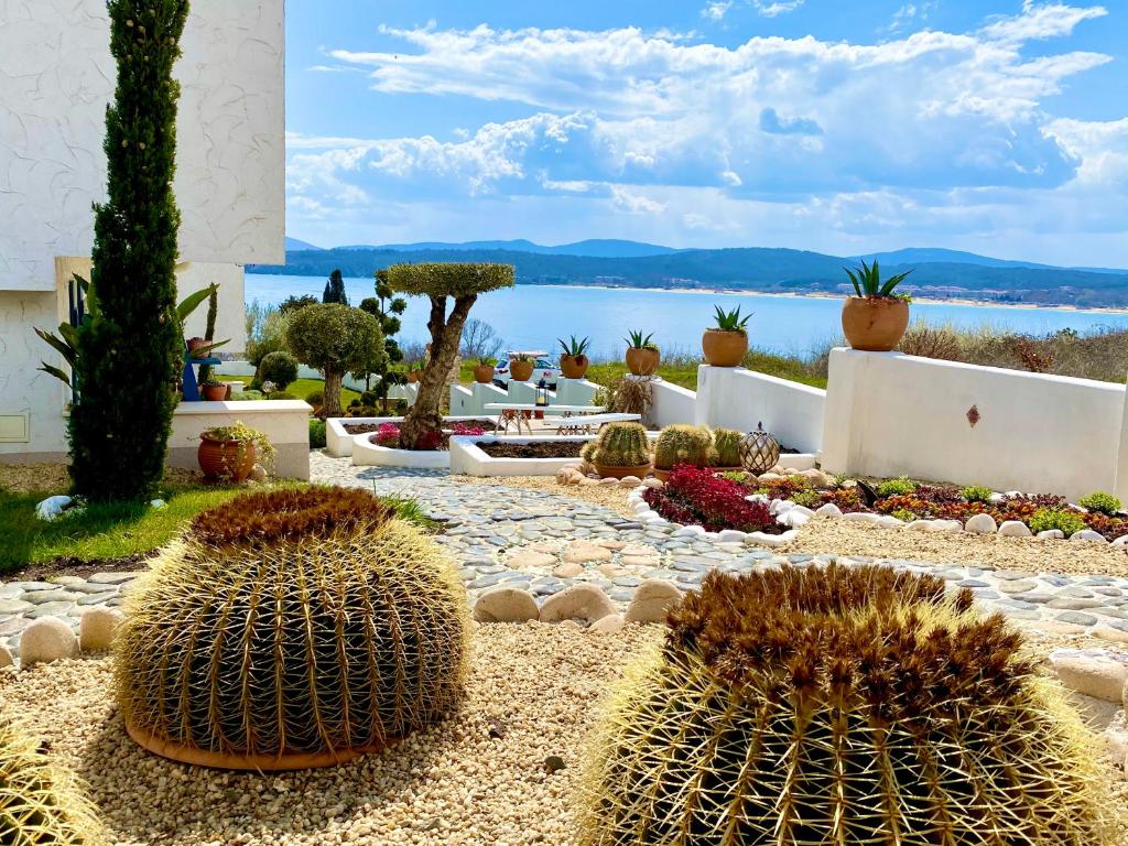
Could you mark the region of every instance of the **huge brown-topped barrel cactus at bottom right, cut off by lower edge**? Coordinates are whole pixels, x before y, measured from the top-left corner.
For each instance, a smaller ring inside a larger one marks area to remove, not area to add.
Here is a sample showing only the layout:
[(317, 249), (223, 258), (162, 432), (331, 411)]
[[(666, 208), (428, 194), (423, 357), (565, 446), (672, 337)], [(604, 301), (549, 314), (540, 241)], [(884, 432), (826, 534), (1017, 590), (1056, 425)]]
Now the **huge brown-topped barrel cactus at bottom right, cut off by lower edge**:
[(583, 846), (1107, 843), (1085, 729), (931, 576), (708, 576), (597, 731)]

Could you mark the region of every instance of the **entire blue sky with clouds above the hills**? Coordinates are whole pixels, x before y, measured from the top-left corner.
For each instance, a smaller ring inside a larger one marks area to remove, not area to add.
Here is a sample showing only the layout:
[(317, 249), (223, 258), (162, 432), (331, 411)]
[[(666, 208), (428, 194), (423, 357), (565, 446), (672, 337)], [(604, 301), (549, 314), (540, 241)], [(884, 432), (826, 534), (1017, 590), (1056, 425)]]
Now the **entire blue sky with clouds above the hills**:
[(288, 233), (1128, 267), (1128, 0), (290, 0)]

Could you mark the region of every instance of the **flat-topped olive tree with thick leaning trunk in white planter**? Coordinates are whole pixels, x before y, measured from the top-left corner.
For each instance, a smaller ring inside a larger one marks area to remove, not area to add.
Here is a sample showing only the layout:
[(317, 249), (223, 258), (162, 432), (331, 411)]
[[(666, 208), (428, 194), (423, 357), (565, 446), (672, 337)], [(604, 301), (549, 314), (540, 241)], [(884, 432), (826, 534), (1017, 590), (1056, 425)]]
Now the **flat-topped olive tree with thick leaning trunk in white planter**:
[[(431, 300), (428, 329), (431, 358), (420, 379), (415, 405), (399, 428), (399, 446), (415, 449), (420, 438), (442, 429), (442, 391), (447, 374), (458, 356), (462, 326), (478, 294), (513, 287), (513, 267), (508, 264), (397, 264), (388, 268), (393, 291)], [(455, 307), (447, 315), (447, 299)]]

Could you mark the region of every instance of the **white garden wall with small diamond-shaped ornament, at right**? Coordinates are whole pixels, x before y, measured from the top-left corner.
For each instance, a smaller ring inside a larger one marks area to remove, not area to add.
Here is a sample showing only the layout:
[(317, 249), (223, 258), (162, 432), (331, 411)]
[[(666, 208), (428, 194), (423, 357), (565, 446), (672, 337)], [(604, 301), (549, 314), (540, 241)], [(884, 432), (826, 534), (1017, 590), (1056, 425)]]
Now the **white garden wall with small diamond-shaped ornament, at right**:
[(822, 467), (1076, 499), (1114, 490), (1123, 408), (1123, 385), (838, 349)]

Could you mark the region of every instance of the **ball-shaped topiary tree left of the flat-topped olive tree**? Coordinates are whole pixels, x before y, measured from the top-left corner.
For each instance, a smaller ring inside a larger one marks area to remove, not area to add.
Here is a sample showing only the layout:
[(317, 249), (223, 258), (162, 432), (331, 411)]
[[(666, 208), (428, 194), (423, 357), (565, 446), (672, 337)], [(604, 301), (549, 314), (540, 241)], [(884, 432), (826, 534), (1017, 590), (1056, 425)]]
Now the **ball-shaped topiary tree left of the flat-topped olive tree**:
[(376, 318), (340, 305), (306, 306), (289, 316), (287, 346), (325, 377), (326, 417), (341, 416), (341, 380), (362, 367), (380, 338)]

